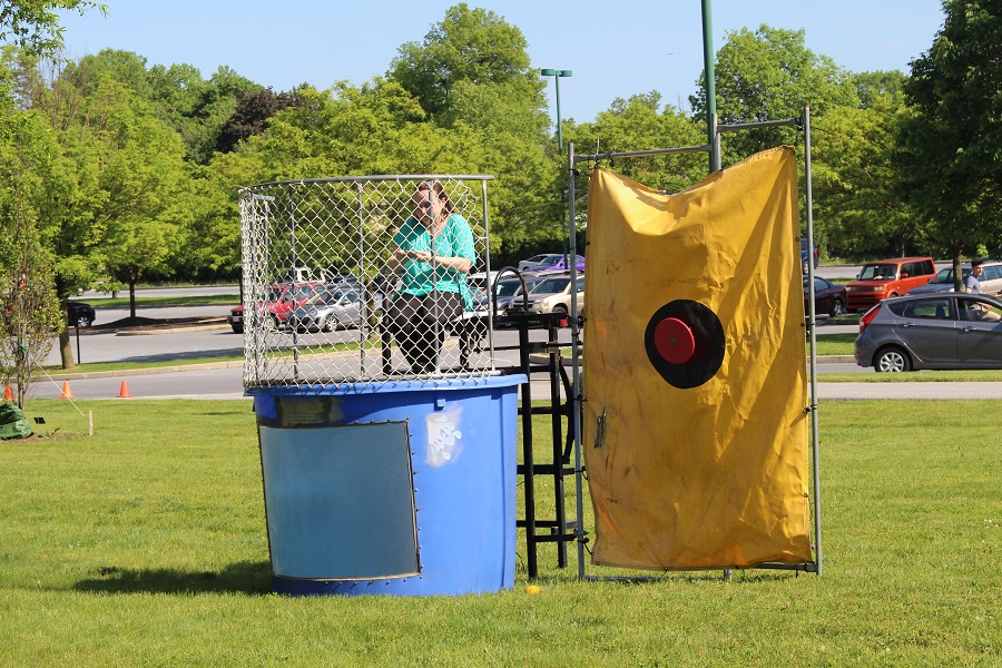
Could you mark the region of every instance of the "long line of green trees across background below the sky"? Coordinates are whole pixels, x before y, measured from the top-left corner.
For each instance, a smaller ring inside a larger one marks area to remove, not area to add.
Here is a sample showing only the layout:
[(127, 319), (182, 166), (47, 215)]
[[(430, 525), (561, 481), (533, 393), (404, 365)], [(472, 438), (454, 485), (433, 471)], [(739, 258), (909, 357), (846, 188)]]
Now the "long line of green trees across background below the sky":
[[(31, 149), (46, 156), (43, 186), (28, 205), (56, 257), (61, 297), (98, 284), (234, 279), (237, 189), (278, 179), (491, 174), (494, 264), (563, 246), (568, 175), (548, 79), (519, 28), (495, 12), (450, 8), (361, 85), (276, 92), (228, 67), (206, 79), (190, 65), (148, 67), (125, 51), (62, 57), (51, 12), (92, 7), (104, 10), (66, 0), (0, 4), (0, 36), (10, 42), (0, 114), (8, 125), (45, 127)], [(1002, 7), (947, 0), (944, 9), (943, 28), (907, 75), (847, 71), (815, 53), (803, 31), (769, 26), (730, 32), (717, 51), (720, 122), (794, 118), (811, 105), (823, 258), (1000, 250)], [(22, 30), (32, 21), (39, 39)], [(688, 108), (638, 92), (593, 120), (568, 119), (564, 137), (578, 154), (701, 145), (706, 90), (703, 73), (692, 76)], [(723, 144), (726, 166), (778, 144), (803, 149), (803, 135), (758, 129)], [(707, 176), (706, 165), (686, 154), (616, 168), (677, 191)], [(579, 169), (582, 193), (586, 177)], [(582, 199), (578, 210), (586, 207)]]

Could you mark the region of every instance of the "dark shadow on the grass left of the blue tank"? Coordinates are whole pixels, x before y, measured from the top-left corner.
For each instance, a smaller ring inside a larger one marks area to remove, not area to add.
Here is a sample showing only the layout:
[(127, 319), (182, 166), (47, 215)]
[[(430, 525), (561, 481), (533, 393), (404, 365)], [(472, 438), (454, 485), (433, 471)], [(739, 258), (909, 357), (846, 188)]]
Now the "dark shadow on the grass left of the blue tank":
[(245, 593), (272, 591), (267, 561), (239, 561), (220, 571), (184, 571), (173, 568), (124, 569), (101, 567), (95, 577), (78, 581), (75, 591), (90, 593)]

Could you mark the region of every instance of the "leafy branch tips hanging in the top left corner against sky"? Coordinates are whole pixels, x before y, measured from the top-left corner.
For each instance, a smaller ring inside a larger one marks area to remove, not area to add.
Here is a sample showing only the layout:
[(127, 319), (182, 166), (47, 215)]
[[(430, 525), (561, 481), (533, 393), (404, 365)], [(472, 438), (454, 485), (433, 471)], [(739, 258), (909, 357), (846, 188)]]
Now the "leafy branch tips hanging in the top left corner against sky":
[(82, 14), (89, 9), (107, 13), (102, 3), (89, 0), (0, 0), (0, 41), (12, 42), (36, 55), (51, 53), (62, 46), (59, 11)]

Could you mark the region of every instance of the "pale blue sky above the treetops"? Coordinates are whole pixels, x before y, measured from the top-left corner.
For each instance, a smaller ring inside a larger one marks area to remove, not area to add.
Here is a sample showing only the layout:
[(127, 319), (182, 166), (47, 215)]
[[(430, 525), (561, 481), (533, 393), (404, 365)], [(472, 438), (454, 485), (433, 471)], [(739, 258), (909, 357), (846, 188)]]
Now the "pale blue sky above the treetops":
[[(458, 0), (101, 0), (63, 13), (73, 58), (112, 48), (153, 65), (188, 63), (209, 78), (227, 66), (276, 92), (318, 89), (385, 75), (401, 45), (420, 42)], [(518, 27), (533, 68), (571, 70), (560, 80), (560, 112), (595, 120), (616, 98), (657, 90), (688, 109), (703, 71), (701, 0), (469, 0)], [(765, 23), (804, 30), (807, 48), (853, 71), (901, 70), (932, 45), (943, 23), (939, 0), (713, 0), (713, 47), (728, 32)], [(553, 110), (552, 78), (547, 87)]]

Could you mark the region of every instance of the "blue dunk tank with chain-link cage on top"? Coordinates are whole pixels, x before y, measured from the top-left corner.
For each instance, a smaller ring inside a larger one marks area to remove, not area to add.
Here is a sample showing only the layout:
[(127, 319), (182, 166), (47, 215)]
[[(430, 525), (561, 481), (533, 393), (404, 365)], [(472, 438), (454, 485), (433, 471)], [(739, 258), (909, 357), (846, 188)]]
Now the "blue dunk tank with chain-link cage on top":
[[(461, 595), (511, 588), (517, 390), (490, 315), (431, 325), (414, 370), (386, 327), (385, 269), (421, 181), (436, 180), (490, 271), (477, 175), (262, 184), (239, 193), (245, 394), (254, 399), (273, 588)], [(235, 322), (235, 328), (237, 323)]]

